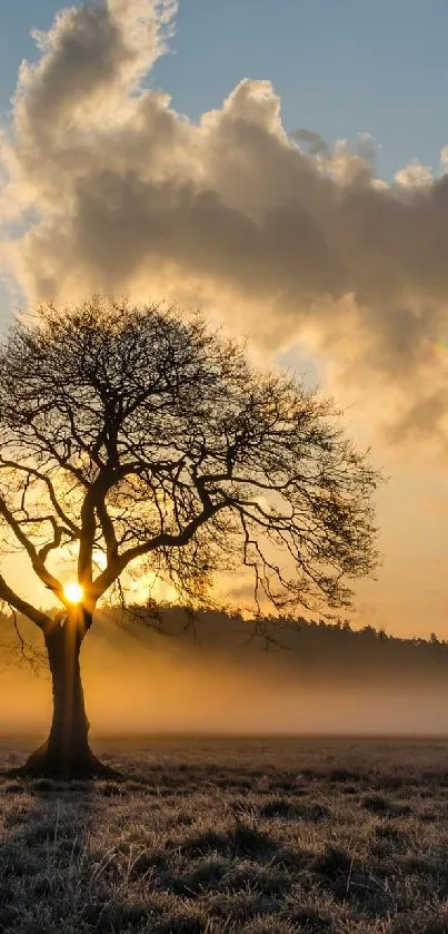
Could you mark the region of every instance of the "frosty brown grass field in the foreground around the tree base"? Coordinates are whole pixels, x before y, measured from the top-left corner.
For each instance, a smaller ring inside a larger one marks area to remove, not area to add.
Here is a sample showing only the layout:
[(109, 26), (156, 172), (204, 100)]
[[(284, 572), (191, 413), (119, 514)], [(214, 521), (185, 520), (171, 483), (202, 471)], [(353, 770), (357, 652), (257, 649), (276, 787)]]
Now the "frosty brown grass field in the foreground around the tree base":
[(448, 932), (448, 744), (98, 748), (123, 780), (0, 778), (0, 931)]

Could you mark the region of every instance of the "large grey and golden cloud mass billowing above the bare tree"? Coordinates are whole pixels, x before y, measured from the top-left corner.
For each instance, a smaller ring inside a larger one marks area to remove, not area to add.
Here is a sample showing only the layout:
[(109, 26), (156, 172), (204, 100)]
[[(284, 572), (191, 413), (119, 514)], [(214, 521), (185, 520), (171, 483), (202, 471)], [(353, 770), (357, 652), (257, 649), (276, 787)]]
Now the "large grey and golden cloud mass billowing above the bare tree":
[(386, 184), (369, 135), (289, 137), (269, 81), (250, 79), (190, 122), (145, 86), (176, 12), (109, 0), (37, 36), (1, 147), (3, 256), (30, 302), (200, 304), (270, 351), (307, 340), (345, 385), (387, 394), (394, 440), (445, 437), (445, 150), (441, 175), (409, 163)]

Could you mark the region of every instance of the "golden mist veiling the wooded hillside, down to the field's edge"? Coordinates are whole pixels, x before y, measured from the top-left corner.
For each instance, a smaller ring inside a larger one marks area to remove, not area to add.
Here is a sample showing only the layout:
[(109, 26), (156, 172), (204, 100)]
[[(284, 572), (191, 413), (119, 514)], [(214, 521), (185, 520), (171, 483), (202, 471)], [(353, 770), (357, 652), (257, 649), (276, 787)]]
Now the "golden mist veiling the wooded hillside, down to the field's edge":
[[(326, 627), (280, 631), (281, 645), (266, 649), (261, 637), (248, 641), (248, 623), (217, 615), (200, 618), (195, 633), (176, 632), (176, 613), (160, 632), (99, 617), (82, 649), (93, 739), (448, 733), (442, 645), (388, 645)], [(3, 651), (0, 736), (43, 738), (50, 717), (44, 668), (37, 677)]]

